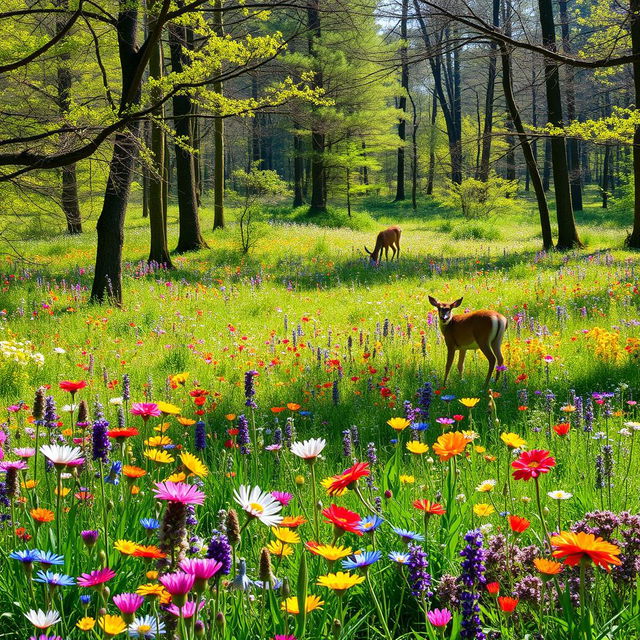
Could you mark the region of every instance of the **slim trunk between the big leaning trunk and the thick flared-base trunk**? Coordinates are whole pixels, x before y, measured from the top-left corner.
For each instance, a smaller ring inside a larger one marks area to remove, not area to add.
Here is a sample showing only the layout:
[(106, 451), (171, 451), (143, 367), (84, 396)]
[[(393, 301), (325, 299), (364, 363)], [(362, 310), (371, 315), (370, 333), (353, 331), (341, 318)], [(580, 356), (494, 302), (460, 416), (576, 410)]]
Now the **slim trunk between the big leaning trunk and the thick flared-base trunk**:
[[(153, 3), (149, 3), (149, 9), (153, 10)], [(155, 18), (152, 15), (147, 17), (149, 31), (156, 27)], [(149, 58), (149, 77), (154, 80), (162, 78), (162, 42), (159, 40), (155, 45), (151, 57)], [(156, 96), (156, 98), (159, 96)], [(164, 108), (159, 107), (153, 115), (160, 121), (164, 118)], [(162, 125), (155, 119), (151, 120), (151, 153), (153, 155), (153, 166), (149, 184), (149, 228), (151, 230), (151, 246), (149, 249), (149, 262), (171, 267), (171, 256), (167, 243), (167, 192), (166, 179), (168, 174), (166, 165), (166, 140)]]

